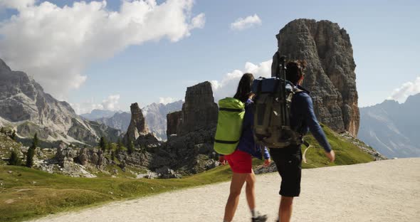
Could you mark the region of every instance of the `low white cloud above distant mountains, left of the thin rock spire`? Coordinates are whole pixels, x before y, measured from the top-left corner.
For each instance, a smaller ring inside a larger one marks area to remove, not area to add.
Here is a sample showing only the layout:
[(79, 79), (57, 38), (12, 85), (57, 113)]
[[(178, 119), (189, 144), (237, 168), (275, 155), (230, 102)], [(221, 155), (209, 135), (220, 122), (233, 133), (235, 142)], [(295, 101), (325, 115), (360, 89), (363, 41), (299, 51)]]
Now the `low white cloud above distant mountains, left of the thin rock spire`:
[(105, 100), (103, 100), (100, 104), (94, 102), (93, 98), (87, 100), (85, 102), (80, 103), (70, 103), (73, 110), (80, 115), (84, 113), (90, 113), (92, 110), (112, 110), (117, 111), (120, 110), (120, 95), (110, 95)]

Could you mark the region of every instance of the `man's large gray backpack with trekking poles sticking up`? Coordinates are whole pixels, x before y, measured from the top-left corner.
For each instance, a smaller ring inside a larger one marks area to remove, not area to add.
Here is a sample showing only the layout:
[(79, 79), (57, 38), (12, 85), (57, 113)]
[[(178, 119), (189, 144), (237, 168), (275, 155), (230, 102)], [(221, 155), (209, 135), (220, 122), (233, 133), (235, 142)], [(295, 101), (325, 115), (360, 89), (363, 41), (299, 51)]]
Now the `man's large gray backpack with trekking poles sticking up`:
[(253, 93), (256, 94), (253, 103), (254, 139), (269, 148), (303, 143), (301, 135), (290, 128), (293, 95), (303, 91), (285, 80), (285, 57), (279, 57), (278, 61), (275, 77), (258, 78), (253, 82)]

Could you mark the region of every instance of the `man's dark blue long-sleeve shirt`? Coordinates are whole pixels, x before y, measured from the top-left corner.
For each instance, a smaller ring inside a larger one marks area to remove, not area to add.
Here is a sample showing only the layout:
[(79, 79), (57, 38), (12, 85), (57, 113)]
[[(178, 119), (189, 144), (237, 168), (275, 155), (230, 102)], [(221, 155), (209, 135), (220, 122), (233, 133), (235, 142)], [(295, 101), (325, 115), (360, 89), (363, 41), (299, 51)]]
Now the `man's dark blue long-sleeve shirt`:
[(325, 137), (325, 133), (313, 111), (310, 92), (300, 85), (297, 87), (302, 92), (293, 95), (293, 100), (290, 105), (290, 126), (302, 135), (310, 131), (317, 142), (325, 149), (325, 152), (331, 152), (330, 143), (327, 141), (327, 137)]

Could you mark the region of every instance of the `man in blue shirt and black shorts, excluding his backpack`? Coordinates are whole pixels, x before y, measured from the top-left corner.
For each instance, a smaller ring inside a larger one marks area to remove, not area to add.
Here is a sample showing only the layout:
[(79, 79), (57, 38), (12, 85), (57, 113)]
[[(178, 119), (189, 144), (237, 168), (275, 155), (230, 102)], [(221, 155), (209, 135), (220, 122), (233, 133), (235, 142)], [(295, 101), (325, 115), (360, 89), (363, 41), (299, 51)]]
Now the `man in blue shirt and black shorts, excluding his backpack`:
[[(317, 122), (313, 111), (313, 102), (309, 96), (310, 93), (300, 86), (303, 83), (305, 65), (306, 63), (300, 60), (289, 62), (286, 65), (286, 79), (301, 90), (293, 95), (290, 106), (290, 126), (301, 135), (308, 133), (309, 129), (315, 139), (317, 139), (317, 142), (324, 148), (328, 159), (334, 162), (335, 153), (331, 149), (320, 124)], [(300, 144), (294, 144), (285, 148), (271, 148), (270, 154), (281, 176), (278, 221), (289, 222), (292, 216), (293, 197), (300, 194), (301, 147)]]

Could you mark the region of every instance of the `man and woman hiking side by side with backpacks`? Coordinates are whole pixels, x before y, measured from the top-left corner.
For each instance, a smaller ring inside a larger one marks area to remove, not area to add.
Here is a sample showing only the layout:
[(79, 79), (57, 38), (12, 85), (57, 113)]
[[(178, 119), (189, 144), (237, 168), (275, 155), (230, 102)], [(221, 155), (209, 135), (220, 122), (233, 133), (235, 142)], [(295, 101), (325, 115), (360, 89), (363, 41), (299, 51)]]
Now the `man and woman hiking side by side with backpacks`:
[[(313, 110), (313, 102), (309, 95), (310, 93), (301, 86), (304, 78), (303, 70), (305, 69), (305, 65), (306, 63), (300, 60), (290, 61), (285, 65), (285, 78), (291, 83), (290, 85), (293, 84), (293, 88), (295, 88), (295, 93), (293, 93), (290, 102), (290, 128), (293, 129), (294, 132), (297, 132), (300, 141), (302, 141), (303, 135), (310, 131), (315, 139), (317, 139), (317, 142), (325, 149), (327, 158), (333, 162), (335, 160), (335, 153), (332, 151), (320, 124), (317, 122)], [(218, 149), (231, 147), (231, 152), (226, 152), (225, 155), (221, 155), (219, 161), (221, 164), (226, 164), (226, 162), (229, 163), (233, 172), (229, 199), (226, 203), (224, 213), (224, 222), (232, 221), (238, 206), (242, 186), (245, 183), (246, 201), (251, 210), (252, 221), (267, 221), (266, 215), (262, 215), (256, 211), (256, 176), (252, 170), (252, 157), (258, 159), (264, 158), (265, 166), (270, 164), (271, 159), (275, 162), (281, 177), (279, 192), (281, 197), (277, 221), (288, 222), (292, 216), (293, 198), (300, 194), (300, 176), (302, 171), (301, 142), (289, 144), (282, 148), (268, 147), (270, 152), (268, 152), (267, 147), (256, 144), (254, 140), (255, 130), (253, 129), (256, 109), (253, 109), (253, 99), (256, 94), (258, 95), (258, 92), (255, 90), (255, 85), (253, 90), (253, 82), (254, 78), (251, 73), (244, 74), (239, 81), (238, 89), (233, 97), (236, 99), (236, 103), (244, 105), (244, 108), (243, 106), (241, 108), (240, 105), (238, 107), (232, 107), (232, 105), (230, 107), (225, 107), (224, 101), (232, 98), (226, 98), (219, 101), (219, 122), (216, 130), (215, 150), (223, 154), (223, 152), (220, 152)], [(259, 86), (258, 90), (261, 90), (261, 86)], [(238, 100), (241, 102), (238, 102)], [(232, 102), (229, 104), (232, 104)], [(240, 121), (241, 125), (236, 126), (236, 129), (239, 129), (237, 130), (238, 141), (229, 142), (221, 140), (220, 138), (222, 137), (223, 132), (219, 130), (219, 124), (224, 122), (225, 125), (232, 125), (229, 120), (233, 120), (235, 115), (236, 118), (239, 116), (242, 120)]]

